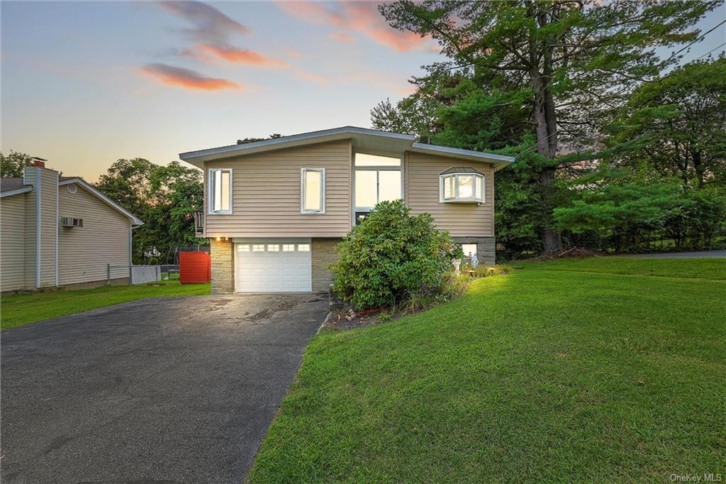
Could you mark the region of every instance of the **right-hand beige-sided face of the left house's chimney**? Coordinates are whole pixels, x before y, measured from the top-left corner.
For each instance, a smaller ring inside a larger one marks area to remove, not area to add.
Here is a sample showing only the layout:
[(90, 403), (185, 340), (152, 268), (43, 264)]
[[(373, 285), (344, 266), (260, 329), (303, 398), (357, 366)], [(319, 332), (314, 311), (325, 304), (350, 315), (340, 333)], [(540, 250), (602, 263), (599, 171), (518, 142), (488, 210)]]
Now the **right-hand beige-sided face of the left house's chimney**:
[(58, 241), (58, 172), (42, 169), (41, 185), (41, 287), (56, 285)]

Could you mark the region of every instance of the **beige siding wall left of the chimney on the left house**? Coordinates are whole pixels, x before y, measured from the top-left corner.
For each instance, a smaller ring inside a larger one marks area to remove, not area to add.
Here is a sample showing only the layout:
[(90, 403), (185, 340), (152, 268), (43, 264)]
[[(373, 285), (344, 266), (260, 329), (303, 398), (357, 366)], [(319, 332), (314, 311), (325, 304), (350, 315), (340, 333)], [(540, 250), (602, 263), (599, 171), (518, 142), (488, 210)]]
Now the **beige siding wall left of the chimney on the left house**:
[[(0, 199), (0, 291), (25, 286), (25, 193)], [(33, 286), (30, 286), (32, 289)]]

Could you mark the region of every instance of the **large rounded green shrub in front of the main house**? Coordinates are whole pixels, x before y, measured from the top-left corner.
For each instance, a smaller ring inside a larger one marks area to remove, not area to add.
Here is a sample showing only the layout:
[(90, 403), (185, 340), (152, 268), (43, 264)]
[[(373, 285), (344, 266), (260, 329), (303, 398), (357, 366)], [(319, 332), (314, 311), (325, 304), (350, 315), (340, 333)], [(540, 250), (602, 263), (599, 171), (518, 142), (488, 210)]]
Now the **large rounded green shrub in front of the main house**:
[(359, 309), (438, 291), (456, 244), (430, 214), (412, 217), (402, 201), (381, 202), (338, 244), (333, 291)]

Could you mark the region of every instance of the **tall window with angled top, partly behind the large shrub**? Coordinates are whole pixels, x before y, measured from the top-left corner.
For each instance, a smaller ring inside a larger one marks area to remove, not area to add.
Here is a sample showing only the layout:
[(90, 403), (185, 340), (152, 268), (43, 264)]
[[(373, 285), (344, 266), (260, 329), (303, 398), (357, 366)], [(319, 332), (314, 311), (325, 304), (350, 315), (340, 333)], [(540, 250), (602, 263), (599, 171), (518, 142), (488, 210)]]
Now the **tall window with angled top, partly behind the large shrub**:
[(403, 198), (400, 157), (356, 153), (354, 166), (354, 214), (369, 212), (382, 201)]

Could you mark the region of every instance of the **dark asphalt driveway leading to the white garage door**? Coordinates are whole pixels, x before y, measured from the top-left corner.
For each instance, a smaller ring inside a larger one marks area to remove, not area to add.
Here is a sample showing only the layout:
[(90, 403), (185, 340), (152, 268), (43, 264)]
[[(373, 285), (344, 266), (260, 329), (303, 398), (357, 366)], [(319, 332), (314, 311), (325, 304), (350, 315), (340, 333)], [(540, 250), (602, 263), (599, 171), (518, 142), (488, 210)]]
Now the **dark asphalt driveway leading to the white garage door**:
[(238, 483), (327, 310), (147, 299), (1, 335), (3, 483)]

